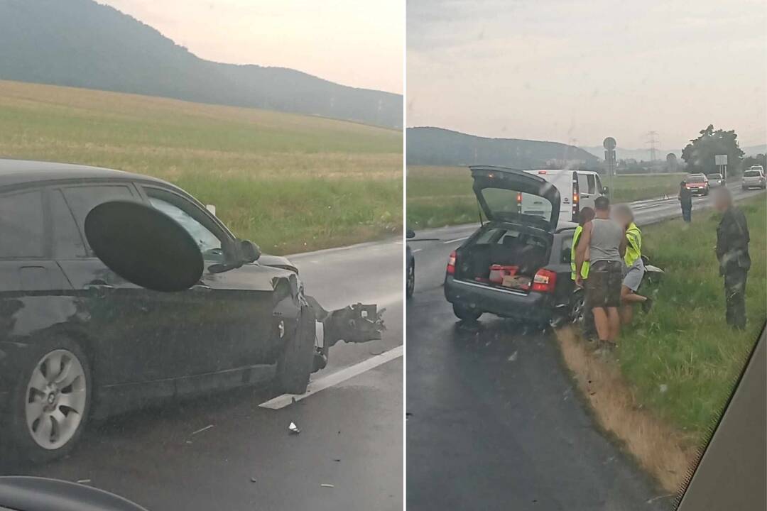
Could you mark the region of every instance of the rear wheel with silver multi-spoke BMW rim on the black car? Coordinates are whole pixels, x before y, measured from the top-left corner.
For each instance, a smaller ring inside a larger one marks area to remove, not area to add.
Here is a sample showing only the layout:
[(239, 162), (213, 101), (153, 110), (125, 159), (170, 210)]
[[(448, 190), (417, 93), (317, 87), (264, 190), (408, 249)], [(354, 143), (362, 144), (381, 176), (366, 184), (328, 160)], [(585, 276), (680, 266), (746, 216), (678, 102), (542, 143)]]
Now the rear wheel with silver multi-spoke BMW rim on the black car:
[(77, 444), (94, 386), (87, 356), (71, 339), (45, 339), (29, 348), (8, 404), (8, 431), (14, 454), (44, 464)]

